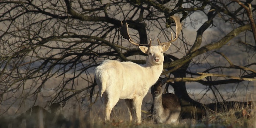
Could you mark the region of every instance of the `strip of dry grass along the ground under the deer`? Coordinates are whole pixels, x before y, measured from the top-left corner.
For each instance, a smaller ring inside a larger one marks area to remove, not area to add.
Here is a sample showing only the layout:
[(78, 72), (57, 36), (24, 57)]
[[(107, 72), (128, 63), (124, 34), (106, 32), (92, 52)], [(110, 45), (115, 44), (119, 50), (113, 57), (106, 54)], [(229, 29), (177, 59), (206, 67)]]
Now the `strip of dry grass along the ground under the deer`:
[[(175, 126), (172, 124), (154, 124), (149, 118), (150, 115), (146, 114), (142, 114), (142, 123), (136, 124), (128, 121), (128, 113), (124, 112), (123, 109), (115, 109), (112, 113), (112, 120), (107, 123), (102, 120), (102, 112), (97, 114), (87, 113), (86, 116), (79, 112), (65, 120), (57, 120), (53, 124), (44, 124), (44, 128), (254, 128), (256, 121), (255, 110), (249, 108), (234, 108), (218, 112), (209, 111), (209, 115), (200, 120), (181, 120), (180, 124)], [(15, 122), (14, 120), (14, 118), (0, 117), (0, 128), (16, 128), (12, 124)], [(18, 127), (22, 126), (24, 127), (22, 123), (18, 123)]]

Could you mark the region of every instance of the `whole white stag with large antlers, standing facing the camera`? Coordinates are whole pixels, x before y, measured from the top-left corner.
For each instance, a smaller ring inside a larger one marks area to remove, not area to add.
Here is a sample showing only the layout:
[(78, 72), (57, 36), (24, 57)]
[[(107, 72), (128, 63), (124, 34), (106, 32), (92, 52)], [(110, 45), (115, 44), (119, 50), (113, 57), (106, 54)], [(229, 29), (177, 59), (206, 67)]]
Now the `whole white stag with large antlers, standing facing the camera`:
[(144, 65), (133, 62), (120, 62), (117, 60), (105, 60), (95, 70), (95, 80), (100, 89), (100, 96), (105, 99), (105, 120), (110, 120), (112, 108), (119, 99), (125, 99), (129, 109), (130, 121), (132, 121), (132, 110), (135, 109), (137, 123), (141, 123), (142, 100), (149, 88), (158, 80), (163, 70), (163, 52), (169, 49), (171, 42), (176, 41), (181, 31), (180, 18), (171, 16), (176, 23), (176, 37), (168, 42), (157, 46), (148, 44), (137, 44), (133, 42), (128, 32), (128, 24), (122, 25), (121, 34), (140, 50), (147, 54)]

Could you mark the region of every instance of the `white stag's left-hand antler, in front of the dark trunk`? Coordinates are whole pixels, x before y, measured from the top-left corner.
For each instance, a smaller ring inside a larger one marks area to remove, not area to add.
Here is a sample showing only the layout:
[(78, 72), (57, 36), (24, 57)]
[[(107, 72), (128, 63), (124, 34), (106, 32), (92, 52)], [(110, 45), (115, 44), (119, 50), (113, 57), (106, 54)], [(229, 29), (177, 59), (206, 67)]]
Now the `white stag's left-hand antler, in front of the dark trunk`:
[(121, 35), (123, 36), (123, 38), (127, 39), (131, 44), (136, 45), (136, 46), (147, 46), (150, 47), (151, 46), (151, 39), (149, 44), (138, 44), (138, 43), (134, 43), (133, 40), (131, 39), (129, 32), (128, 32), (128, 23), (125, 23), (125, 25), (123, 25), (123, 22), (121, 21)]

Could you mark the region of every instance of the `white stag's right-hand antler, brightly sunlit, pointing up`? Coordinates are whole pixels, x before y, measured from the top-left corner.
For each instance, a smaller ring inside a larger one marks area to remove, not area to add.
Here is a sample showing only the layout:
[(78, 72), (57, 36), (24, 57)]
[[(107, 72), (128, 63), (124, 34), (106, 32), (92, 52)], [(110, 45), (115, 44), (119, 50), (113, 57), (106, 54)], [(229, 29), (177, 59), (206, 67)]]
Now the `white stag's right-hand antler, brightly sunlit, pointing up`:
[(179, 16), (170, 16), (170, 18), (172, 18), (172, 19), (175, 21), (175, 24), (176, 24), (176, 35), (175, 35), (175, 38), (173, 39), (173, 33), (171, 32), (171, 36), (172, 36), (172, 37), (171, 37), (171, 40), (168, 41), (168, 42), (163, 42), (163, 43), (161, 43), (161, 42), (159, 41), (159, 39), (157, 38), (158, 45), (164, 45), (164, 44), (166, 44), (166, 43), (174, 42), (174, 41), (176, 41), (176, 40), (178, 39), (178, 36), (179, 36), (180, 31), (181, 31), (181, 29), (182, 29), (182, 25), (181, 25), (181, 23), (180, 23), (180, 17), (179, 17)]

